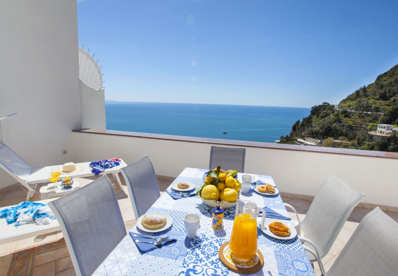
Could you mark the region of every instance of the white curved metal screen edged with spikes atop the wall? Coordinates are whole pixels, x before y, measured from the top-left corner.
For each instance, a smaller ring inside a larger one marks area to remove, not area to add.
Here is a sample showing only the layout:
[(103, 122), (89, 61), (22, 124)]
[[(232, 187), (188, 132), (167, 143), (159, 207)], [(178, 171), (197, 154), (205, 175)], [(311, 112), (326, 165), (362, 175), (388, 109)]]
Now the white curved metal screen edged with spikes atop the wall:
[(79, 79), (88, 87), (101, 90), (105, 87), (102, 86), (102, 76), (104, 74), (101, 73), (101, 68), (98, 65), (98, 59), (94, 59), (94, 55), (90, 55), (90, 48), (88, 50), (83, 49), (84, 44), (82, 47), (79, 47)]

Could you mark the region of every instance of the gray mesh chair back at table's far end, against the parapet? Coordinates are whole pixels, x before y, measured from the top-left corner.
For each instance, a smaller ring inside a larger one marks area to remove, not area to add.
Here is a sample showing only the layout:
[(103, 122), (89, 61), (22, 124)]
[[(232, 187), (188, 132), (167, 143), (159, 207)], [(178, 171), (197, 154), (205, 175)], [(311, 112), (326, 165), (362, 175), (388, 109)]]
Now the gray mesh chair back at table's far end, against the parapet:
[(221, 166), (223, 170), (245, 170), (246, 148), (227, 148), (211, 146), (209, 170)]

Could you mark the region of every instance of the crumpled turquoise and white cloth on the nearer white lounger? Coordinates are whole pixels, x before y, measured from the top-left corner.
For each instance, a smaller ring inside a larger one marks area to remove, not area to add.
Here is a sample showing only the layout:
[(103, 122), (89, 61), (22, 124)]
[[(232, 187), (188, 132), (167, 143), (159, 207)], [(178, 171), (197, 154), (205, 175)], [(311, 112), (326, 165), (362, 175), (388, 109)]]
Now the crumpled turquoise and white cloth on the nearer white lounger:
[(49, 224), (55, 215), (47, 204), (24, 201), (17, 206), (0, 211), (0, 217), (5, 217), (7, 224), (15, 227), (35, 221), (36, 224)]

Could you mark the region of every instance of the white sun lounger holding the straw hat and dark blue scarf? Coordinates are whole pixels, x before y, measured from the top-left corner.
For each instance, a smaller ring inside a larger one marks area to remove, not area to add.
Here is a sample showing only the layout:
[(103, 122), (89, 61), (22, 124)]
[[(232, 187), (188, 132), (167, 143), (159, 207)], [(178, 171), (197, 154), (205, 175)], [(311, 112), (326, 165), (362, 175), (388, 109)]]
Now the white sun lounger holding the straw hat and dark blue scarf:
[[(90, 162), (77, 163), (76, 165), (80, 165), (84, 169), (81, 172), (71, 173), (65, 176), (92, 176), (93, 174), (91, 173), (91, 168), (88, 164), (90, 164)], [(117, 173), (119, 172), (119, 169), (124, 166), (126, 166), (126, 163), (121, 160), (119, 166), (106, 169), (105, 172), (100, 174), (112, 173), (120, 189), (123, 190), (122, 183)], [(37, 184), (49, 182), (48, 176), (53, 167), (62, 167), (62, 165), (32, 168), (22, 158), (20, 158), (18, 154), (4, 144), (4, 142), (0, 141), (0, 168), (14, 177), (14, 179), (16, 179), (24, 189), (27, 189), (26, 201), (29, 201), (29, 198), (35, 193)]]

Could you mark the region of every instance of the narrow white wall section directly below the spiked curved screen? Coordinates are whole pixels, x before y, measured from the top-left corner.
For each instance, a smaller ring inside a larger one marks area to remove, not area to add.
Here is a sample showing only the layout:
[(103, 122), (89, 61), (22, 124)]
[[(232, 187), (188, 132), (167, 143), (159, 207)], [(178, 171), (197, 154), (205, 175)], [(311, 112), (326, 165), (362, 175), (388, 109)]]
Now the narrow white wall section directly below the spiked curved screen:
[(106, 129), (105, 89), (94, 90), (80, 83), (82, 128)]

